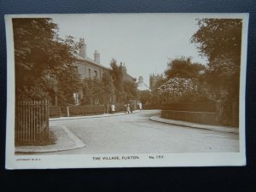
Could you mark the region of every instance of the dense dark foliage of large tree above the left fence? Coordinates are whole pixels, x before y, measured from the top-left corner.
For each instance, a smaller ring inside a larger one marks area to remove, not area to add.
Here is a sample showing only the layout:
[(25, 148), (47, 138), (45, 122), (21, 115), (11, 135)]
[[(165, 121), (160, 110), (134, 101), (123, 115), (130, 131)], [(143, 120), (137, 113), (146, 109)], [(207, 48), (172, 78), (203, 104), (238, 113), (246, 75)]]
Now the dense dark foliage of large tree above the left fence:
[(73, 68), (77, 49), (73, 38), (59, 38), (50, 18), (13, 19), (13, 29), (16, 97), (71, 100), (70, 93), (79, 87), (79, 75)]

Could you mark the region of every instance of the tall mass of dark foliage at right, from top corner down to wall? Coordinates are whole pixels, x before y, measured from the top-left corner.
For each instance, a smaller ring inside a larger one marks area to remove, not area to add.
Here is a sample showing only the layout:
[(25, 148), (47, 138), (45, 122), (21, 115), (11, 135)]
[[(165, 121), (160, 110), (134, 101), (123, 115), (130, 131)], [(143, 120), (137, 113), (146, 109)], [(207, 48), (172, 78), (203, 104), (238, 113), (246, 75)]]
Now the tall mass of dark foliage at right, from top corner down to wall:
[(191, 38), (209, 61), (205, 80), (217, 99), (225, 95), (238, 100), (241, 63), (241, 20), (201, 19)]

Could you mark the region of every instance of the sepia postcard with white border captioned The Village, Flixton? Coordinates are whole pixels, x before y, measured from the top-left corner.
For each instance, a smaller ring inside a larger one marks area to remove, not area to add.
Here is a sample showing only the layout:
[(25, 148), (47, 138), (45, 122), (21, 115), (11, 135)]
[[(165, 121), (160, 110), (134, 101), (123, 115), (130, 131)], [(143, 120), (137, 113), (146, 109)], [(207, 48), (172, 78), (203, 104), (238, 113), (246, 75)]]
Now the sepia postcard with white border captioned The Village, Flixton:
[(5, 24), (7, 169), (246, 165), (247, 14)]

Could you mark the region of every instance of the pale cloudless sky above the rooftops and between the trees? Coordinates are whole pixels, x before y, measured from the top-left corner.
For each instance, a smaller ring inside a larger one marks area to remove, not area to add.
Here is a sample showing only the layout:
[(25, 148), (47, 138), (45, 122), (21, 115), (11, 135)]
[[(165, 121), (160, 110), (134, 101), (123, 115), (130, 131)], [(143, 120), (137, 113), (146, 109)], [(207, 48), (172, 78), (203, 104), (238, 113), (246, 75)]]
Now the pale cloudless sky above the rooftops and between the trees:
[(199, 29), (191, 14), (90, 14), (53, 15), (61, 38), (70, 35), (84, 38), (87, 56), (101, 54), (101, 64), (110, 61), (125, 63), (132, 77), (143, 76), (149, 85), (149, 75), (164, 73), (167, 62), (180, 56), (191, 56), (192, 62), (207, 64), (190, 38)]

